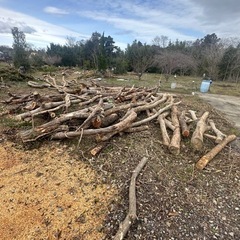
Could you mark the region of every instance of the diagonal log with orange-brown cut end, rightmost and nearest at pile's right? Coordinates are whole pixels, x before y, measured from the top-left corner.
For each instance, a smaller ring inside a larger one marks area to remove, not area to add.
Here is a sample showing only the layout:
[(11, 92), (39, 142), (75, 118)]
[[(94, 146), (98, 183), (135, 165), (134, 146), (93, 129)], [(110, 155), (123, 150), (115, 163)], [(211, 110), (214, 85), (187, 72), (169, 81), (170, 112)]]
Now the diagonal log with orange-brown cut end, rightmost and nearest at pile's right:
[(235, 135), (229, 135), (222, 140), (217, 146), (215, 146), (210, 152), (204, 155), (197, 163), (196, 168), (202, 170), (206, 165), (230, 142), (234, 141), (237, 137)]

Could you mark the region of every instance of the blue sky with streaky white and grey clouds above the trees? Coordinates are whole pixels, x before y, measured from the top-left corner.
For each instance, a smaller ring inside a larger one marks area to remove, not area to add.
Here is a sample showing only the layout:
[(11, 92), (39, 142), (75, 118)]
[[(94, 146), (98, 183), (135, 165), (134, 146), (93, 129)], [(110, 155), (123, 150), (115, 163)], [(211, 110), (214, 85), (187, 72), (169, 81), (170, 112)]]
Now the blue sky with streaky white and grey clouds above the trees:
[(66, 37), (88, 39), (95, 31), (125, 48), (156, 36), (195, 40), (207, 34), (240, 35), (239, 0), (0, 0), (0, 45), (12, 45), (18, 27), (28, 43), (46, 47)]

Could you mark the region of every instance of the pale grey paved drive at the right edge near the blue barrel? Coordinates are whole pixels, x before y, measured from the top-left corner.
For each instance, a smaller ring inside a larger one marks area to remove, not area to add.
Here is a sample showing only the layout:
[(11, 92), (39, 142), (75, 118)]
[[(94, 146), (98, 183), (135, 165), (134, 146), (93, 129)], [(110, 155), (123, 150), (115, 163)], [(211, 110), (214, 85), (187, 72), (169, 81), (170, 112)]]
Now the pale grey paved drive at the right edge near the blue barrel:
[(199, 94), (199, 97), (220, 110), (224, 115), (240, 129), (240, 98), (216, 94)]

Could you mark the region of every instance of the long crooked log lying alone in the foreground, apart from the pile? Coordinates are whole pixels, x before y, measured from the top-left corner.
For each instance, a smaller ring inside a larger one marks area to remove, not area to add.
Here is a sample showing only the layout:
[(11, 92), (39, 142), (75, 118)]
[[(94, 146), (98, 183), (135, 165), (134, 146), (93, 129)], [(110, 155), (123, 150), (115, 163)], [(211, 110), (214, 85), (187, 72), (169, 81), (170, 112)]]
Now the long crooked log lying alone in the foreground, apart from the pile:
[(141, 172), (147, 161), (148, 159), (146, 157), (143, 157), (133, 171), (129, 186), (129, 211), (124, 221), (120, 223), (119, 229), (114, 236), (114, 240), (122, 240), (127, 234), (131, 224), (137, 219), (136, 178), (138, 177), (139, 173)]

